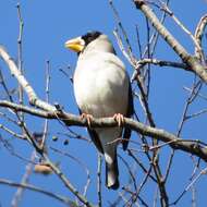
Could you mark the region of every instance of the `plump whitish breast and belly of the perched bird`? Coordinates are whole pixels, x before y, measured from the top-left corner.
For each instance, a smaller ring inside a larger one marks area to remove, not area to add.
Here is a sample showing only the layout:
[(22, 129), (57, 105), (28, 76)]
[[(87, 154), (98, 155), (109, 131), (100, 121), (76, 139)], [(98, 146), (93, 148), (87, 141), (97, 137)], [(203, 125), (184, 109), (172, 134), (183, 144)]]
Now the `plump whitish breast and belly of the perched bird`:
[(125, 114), (129, 77), (123, 63), (109, 52), (81, 56), (74, 74), (74, 93), (82, 112), (94, 117)]

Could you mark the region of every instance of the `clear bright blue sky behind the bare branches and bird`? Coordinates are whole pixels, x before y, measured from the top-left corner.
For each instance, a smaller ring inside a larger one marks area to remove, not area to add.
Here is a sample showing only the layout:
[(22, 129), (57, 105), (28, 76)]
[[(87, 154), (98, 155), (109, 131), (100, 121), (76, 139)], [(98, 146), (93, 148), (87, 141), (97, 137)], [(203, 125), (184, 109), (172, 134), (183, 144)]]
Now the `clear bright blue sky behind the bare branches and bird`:
[[(49, 0), (36, 0), (36, 1), (13, 1), (13, 0), (1, 0), (0, 4), (0, 44), (2, 44), (11, 56), (16, 59), (17, 56), (17, 36), (19, 36), (19, 19), (16, 4), (20, 2), (22, 16), (24, 21), (23, 31), (23, 68), (25, 75), (36, 93), (40, 98), (45, 98), (45, 71), (46, 61), (50, 61), (51, 68), (51, 83), (50, 83), (50, 102), (58, 101), (64, 109), (72, 113), (77, 113), (77, 108), (74, 101), (74, 95), (72, 84), (69, 78), (60, 72), (60, 69), (66, 70), (72, 75), (75, 68), (76, 54), (68, 51), (64, 48), (64, 42), (69, 38), (80, 36), (87, 31), (98, 29), (111, 38), (118, 54), (123, 59), (127, 71), (132, 74), (132, 68), (126, 62), (124, 57), (121, 54), (117, 45), (115, 38), (112, 35), (112, 31), (117, 26), (114, 15), (107, 0), (96, 1), (81, 1), (81, 0), (62, 0), (62, 1), (49, 1)], [(138, 57), (138, 49), (136, 42), (135, 25), (138, 25), (141, 40), (143, 46), (146, 45), (146, 25), (145, 17), (143, 14), (135, 10), (132, 1), (130, 0), (114, 0), (114, 5), (119, 11), (122, 24), (127, 32), (129, 38), (133, 47), (134, 53)], [(175, 1), (171, 0), (170, 8), (186, 27), (194, 33), (197, 22), (200, 16), (206, 13), (207, 3), (205, 0), (183, 0)], [(193, 10), (193, 11), (192, 11)], [(168, 28), (175, 35), (175, 37), (186, 47), (187, 51), (193, 52), (193, 44), (190, 37), (184, 34), (180, 27), (178, 27), (171, 19), (167, 20)], [(156, 50), (155, 57), (158, 59), (166, 59), (172, 61), (179, 61), (179, 58), (169, 48), (169, 46), (162, 40), (159, 40), (159, 47)], [(1, 61), (0, 69), (3, 71), (9, 87), (15, 87), (16, 81), (11, 77), (7, 71), (7, 66)], [(190, 73), (183, 72), (176, 69), (170, 68), (158, 68), (154, 66), (151, 72), (151, 86), (150, 86), (150, 109), (153, 111), (156, 123), (159, 127), (168, 130), (172, 133), (176, 132), (179, 121), (183, 111), (184, 102), (187, 97), (187, 93), (183, 89), (184, 86), (191, 87), (192, 80), (194, 76)], [(2, 89), (0, 90), (0, 93)], [(204, 90), (205, 93), (205, 90)], [(25, 98), (26, 100), (26, 98)], [(27, 102), (27, 101), (26, 101)], [(138, 100), (135, 101), (137, 113), (143, 117), (143, 111), (139, 107)], [(206, 102), (198, 100), (191, 108), (192, 112), (204, 109)], [(31, 131), (41, 131), (44, 121), (40, 119), (34, 119), (26, 117), (27, 125)], [(144, 121), (144, 119), (142, 119)], [(1, 120), (0, 123), (9, 124), (5, 120)], [(185, 125), (182, 136), (185, 138), (203, 139), (205, 141), (204, 127), (206, 125), (206, 115), (202, 115), (199, 119), (187, 122)], [(192, 127), (193, 124), (193, 127)], [(9, 124), (10, 126), (10, 124)], [(74, 127), (77, 130), (76, 127)], [(202, 130), (200, 130), (202, 129)], [(97, 169), (97, 153), (96, 149), (88, 145), (86, 142), (78, 142), (71, 139), (68, 146), (63, 145), (66, 138), (60, 135), (57, 143), (51, 142), (52, 135), (57, 135), (57, 132), (66, 133), (66, 129), (59, 124), (57, 121), (50, 123), (50, 135), (48, 137), (48, 144), (50, 146), (60, 148), (78, 157), (83, 162), (88, 166), (92, 173), (92, 186), (88, 191), (88, 199), (95, 202), (96, 195), (96, 169)], [(85, 130), (78, 129), (78, 133), (87, 136)], [(25, 142), (15, 141), (12, 137), (8, 137), (8, 134), (1, 132), (3, 136), (9, 138), (13, 150), (22, 157), (29, 158), (32, 148)], [(133, 138), (137, 141), (138, 136), (134, 133)], [(169, 148), (165, 148), (161, 153), (161, 161), (165, 169), (167, 158), (169, 156)], [(126, 160), (130, 161), (129, 157), (119, 150)], [(142, 156), (142, 155), (141, 155)], [(70, 181), (74, 183), (80, 191), (83, 191), (81, 186), (86, 181), (86, 175), (82, 168), (78, 167), (73, 160), (65, 158), (64, 156), (51, 154), (54, 162), (60, 162), (60, 168), (66, 173)], [(25, 171), (25, 161), (12, 156), (2, 145), (0, 145), (0, 162), (3, 168), (0, 170), (0, 178), (5, 178), (20, 182)], [(130, 162), (131, 163), (131, 162)], [(147, 163), (146, 163), (147, 165)], [(121, 163), (121, 182), (127, 182), (126, 169)], [(179, 193), (188, 183), (188, 178), (193, 171), (192, 160), (186, 154), (176, 153), (173, 170), (171, 173), (172, 179), (169, 179), (167, 190), (174, 193), (171, 199), (176, 198)], [(123, 169), (123, 170), (122, 170)], [(102, 182), (105, 182), (105, 169), (102, 168)], [(84, 174), (84, 175), (83, 175)], [(142, 181), (143, 172), (137, 172), (138, 180)], [(45, 188), (52, 190), (59, 194), (65, 196), (72, 196), (69, 191), (60, 183), (56, 175), (41, 176), (33, 174), (31, 176), (31, 183), (37, 186), (44, 186)], [(151, 184), (151, 183), (149, 183)], [(107, 200), (112, 202), (118, 195), (117, 192), (111, 192), (102, 188), (106, 203)], [(202, 178), (197, 183), (197, 206), (203, 206), (207, 200), (205, 197), (206, 181)], [(0, 206), (10, 206), (15, 188), (0, 185)], [(142, 194), (144, 197), (149, 197), (149, 204), (153, 200), (155, 193), (155, 186), (149, 190), (146, 187)], [(31, 205), (32, 203), (32, 205)], [(63, 206), (57, 200), (36, 194), (26, 192), (20, 206)], [(180, 206), (191, 205), (191, 193), (188, 193), (181, 200)], [(150, 205), (149, 205), (150, 206)]]

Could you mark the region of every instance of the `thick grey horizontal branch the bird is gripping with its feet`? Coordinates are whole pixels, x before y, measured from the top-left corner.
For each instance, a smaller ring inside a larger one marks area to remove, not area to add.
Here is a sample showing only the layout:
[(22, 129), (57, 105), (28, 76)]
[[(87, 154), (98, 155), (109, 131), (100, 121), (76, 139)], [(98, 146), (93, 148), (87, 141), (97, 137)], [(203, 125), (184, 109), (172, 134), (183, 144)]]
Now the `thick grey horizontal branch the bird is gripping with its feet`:
[[(23, 110), (33, 115), (37, 115), (40, 118), (47, 119), (59, 119), (64, 122), (66, 125), (77, 125), (77, 126), (87, 126), (87, 120), (83, 120), (80, 115), (66, 113), (64, 111), (40, 111), (37, 109), (31, 109), (29, 107), (19, 106), (9, 101), (0, 101), (1, 107), (12, 108), (15, 110)], [(92, 127), (114, 127), (118, 126), (118, 123), (114, 121), (113, 118), (100, 118), (100, 119), (93, 119), (90, 123)], [(169, 133), (165, 130), (158, 127), (151, 127), (145, 125), (138, 121), (134, 121), (129, 118), (124, 118), (124, 125), (131, 127), (132, 130), (138, 132), (139, 134), (156, 138), (157, 141), (161, 141), (163, 143), (169, 143), (169, 145), (173, 149), (180, 149), (186, 153), (190, 153), (194, 156), (202, 158), (203, 160), (207, 161), (207, 148), (200, 145), (199, 141), (187, 141), (182, 139), (175, 136), (172, 133)]]

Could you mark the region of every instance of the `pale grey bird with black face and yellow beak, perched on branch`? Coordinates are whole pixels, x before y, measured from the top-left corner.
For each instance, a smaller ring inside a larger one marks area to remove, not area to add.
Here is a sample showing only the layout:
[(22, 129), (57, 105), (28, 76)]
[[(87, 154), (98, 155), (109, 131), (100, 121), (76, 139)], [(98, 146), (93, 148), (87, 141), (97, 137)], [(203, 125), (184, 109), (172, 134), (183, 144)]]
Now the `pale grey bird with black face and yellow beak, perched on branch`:
[[(77, 53), (73, 76), (76, 104), (82, 118), (88, 121), (87, 131), (106, 162), (106, 186), (118, 190), (118, 144), (125, 150), (131, 129), (124, 127), (124, 117), (134, 113), (132, 87), (124, 63), (118, 58), (112, 42), (101, 32), (92, 31), (65, 41)], [(90, 127), (93, 118), (113, 117), (114, 127)]]

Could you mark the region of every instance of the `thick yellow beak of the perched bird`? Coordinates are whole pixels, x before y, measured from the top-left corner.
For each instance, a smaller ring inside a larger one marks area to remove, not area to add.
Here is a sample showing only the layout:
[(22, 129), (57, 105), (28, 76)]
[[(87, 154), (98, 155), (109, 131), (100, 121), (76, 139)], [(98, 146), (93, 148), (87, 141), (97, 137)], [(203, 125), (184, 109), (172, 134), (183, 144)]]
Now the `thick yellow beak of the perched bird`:
[(74, 39), (68, 40), (64, 46), (65, 48), (69, 48), (75, 52), (81, 52), (85, 47), (85, 41), (81, 37), (76, 37)]

